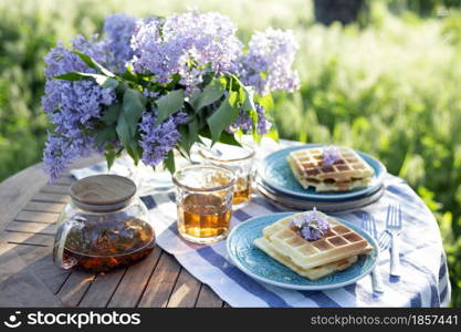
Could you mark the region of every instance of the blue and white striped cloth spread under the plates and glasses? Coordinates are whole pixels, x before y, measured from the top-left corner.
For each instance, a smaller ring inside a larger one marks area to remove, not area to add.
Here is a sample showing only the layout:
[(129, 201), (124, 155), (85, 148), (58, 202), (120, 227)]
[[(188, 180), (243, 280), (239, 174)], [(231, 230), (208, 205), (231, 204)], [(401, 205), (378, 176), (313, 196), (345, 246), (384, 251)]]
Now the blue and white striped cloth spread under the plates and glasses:
[[(101, 164), (74, 170), (77, 178), (103, 173)], [(363, 211), (385, 229), (389, 204), (399, 203), (404, 212), (400, 235), (401, 278), (389, 277), (389, 252), (379, 258), (378, 271), (385, 284), (383, 294), (374, 294), (371, 279), (363, 278), (348, 287), (326, 291), (294, 291), (258, 282), (234, 267), (226, 252), (226, 241), (212, 246), (187, 242), (176, 228), (174, 191), (143, 197), (155, 222), (157, 243), (179, 263), (207, 283), (231, 307), (447, 307), (451, 287), (437, 221), (422, 200), (400, 178), (387, 175), (386, 194), (376, 204), (340, 217), (359, 225)], [(233, 212), (231, 227), (247, 219), (283, 211), (261, 196)]]

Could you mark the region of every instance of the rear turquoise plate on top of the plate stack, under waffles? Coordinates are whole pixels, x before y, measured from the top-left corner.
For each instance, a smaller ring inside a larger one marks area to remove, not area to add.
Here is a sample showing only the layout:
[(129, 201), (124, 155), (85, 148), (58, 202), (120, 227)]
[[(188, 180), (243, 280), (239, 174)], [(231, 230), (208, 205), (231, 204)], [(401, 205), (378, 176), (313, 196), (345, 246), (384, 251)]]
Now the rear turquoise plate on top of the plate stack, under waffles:
[(355, 199), (365, 195), (373, 194), (383, 185), (386, 175), (386, 167), (374, 157), (356, 151), (356, 153), (375, 170), (371, 183), (363, 189), (355, 189), (342, 193), (316, 193), (313, 188), (304, 189), (294, 177), (286, 157), (296, 149), (306, 147), (324, 146), (322, 144), (306, 144), (301, 146), (287, 147), (276, 151), (266, 156), (259, 169), (259, 177), (265, 186), (284, 195), (295, 197), (297, 199), (316, 200), (316, 201), (338, 201), (346, 199)]

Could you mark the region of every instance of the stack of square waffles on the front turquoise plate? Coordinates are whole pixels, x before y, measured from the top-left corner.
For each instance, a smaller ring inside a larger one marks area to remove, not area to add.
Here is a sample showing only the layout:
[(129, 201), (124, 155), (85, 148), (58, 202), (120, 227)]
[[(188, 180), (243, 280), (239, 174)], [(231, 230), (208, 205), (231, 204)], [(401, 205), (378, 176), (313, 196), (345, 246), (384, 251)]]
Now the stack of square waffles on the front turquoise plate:
[(263, 229), (263, 237), (254, 245), (262, 251), (296, 273), (317, 280), (342, 271), (357, 261), (359, 255), (371, 251), (373, 247), (360, 235), (318, 212), (328, 220), (328, 232), (316, 241), (305, 240), (292, 226), (293, 218), (283, 218)]

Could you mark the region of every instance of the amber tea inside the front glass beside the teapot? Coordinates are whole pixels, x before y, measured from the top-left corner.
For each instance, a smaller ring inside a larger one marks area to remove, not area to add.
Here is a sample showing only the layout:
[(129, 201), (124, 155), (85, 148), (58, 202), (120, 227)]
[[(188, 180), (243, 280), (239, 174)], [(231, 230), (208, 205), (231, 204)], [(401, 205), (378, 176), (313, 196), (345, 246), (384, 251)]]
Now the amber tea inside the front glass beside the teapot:
[(178, 229), (186, 238), (214, 238), (229, 230), (231, 207), (213, 194), (189, 194), (178, 204)]

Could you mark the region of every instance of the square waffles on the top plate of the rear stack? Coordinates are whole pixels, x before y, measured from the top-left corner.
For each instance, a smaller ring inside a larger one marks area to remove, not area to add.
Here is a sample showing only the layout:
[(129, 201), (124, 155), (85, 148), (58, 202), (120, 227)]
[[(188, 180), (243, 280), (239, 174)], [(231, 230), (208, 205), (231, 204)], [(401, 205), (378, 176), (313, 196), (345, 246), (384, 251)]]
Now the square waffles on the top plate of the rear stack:
[(340, 159), (323, 165), (323, 148), (313, 147), (290, 153), (287, 162), (297, 181), (307, 189), (347, 191), (364, 188), (371, 181), (374, 169), (353, 149), (337, 147)]

